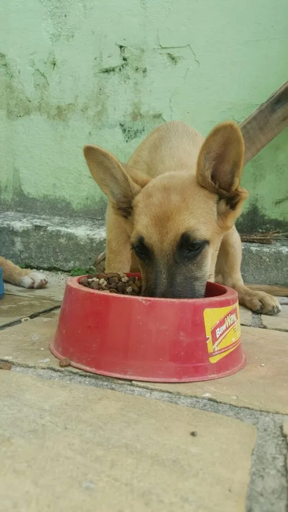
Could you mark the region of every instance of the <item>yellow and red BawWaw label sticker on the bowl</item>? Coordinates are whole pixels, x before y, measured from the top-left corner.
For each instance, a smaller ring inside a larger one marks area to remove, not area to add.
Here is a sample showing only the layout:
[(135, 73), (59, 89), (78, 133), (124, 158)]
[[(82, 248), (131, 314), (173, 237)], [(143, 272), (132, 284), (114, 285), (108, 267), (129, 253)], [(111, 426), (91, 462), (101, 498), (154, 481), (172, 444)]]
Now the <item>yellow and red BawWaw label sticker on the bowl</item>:
[(214, 363), (232, 352), (241, 342), (239, 305), (204, 310), (209, 361)]

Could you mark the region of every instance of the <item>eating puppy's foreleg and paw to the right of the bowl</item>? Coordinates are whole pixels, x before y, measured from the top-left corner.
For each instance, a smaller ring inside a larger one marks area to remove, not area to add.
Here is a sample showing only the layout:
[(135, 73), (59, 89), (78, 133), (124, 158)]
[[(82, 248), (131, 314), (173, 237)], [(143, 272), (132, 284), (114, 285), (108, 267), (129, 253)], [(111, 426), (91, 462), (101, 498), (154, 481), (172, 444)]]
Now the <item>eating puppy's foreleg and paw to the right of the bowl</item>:
[(223, 237), (218, 252), (215, 275), (220, 274), (223, 284), (234, 288), (238, 293), (239, 304), (255, 313), (275, 315), (281, 307), (276, 297), (263, 291), (252, 290), (245, 286), (241, 276), (242, 246), (236, 228), (232, 228)]

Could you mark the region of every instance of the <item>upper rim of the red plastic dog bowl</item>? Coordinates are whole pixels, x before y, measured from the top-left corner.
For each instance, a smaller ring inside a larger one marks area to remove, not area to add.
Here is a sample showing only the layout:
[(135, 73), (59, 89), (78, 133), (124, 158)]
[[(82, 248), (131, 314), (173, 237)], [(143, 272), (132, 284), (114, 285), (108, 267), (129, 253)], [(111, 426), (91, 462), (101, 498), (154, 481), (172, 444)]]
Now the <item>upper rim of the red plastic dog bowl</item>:
[[(99, 272), (99, 274), (100, 273), (101, 272)], [(139, 273), (136, 273), (136, 272), (127, 272), (127, 274), (130, 276), (139, 275)], [(182, 303), (182, 304), (191, 304), (191, 305), (196, 304), (196, 303), (205, 305), (205, 304), (209, 303), (210, 308), (211, 308), (211, 302), (215, 302), (215, 304), (216, 304), (217, 302), (219, 302), (219, 300), (221, 302), (225, 302), (225, 301), (229, 301), (229, 300), (234, 300), (235, 302), (238, 302), (238, 294), (237, 294), (236, 290), (234, 290), (233, 288), (230, 288), (228, 286), (221, 285), (219, 283), (214, 283), (212, 281), (207, 281), (207, 283), (223, 290), (223, 293), (221, 293), (219, 295), (214, 295), (212, 297), (203, 297), (203, 298), (145, 297), (142, 295), (123, 295), (123, 294), (118, 294), (118, 293), (104, 293), (103, 291), (94, 290), (93, 288), (92, 289), (87, 288), (79, 283), (80, 279), (87, 277), (87, 275), (89, 275), (89, 274), (77, 275), (77, 276), (73, 276), (73, 277), (71, 276), (67, 280), (66, 284), (71, 286), (72, 288), (78, 289), (82, 292), (93, 293), (94, 295), (96, 294), (97, 296), (101, 295), (103, 298), (108, 296), (108, 297), (110, 297), (109, 300), (119, 300), (119, 298), (117, 298), (117, 297), (121, 297), (123, 300), (138, 301), (138, 302), (142, 302), (142, 303), (144, 301), (145, 301), (145, 303), (147, 303), (147, 302), (151, 302), (151, 303), (166, 302), (166, 304), (167, 304), (168, 302), (169, 303), (173, 302), (173, 303), (178, 303), (178, 304)]]

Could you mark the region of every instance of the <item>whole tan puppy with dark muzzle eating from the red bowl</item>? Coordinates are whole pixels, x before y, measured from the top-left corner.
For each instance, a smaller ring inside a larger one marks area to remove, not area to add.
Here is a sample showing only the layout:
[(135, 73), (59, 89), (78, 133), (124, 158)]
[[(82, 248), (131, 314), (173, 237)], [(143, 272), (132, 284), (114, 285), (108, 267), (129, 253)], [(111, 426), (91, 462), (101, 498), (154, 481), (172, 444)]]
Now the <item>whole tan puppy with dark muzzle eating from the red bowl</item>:
[(280, 311), (275, 297), (243, 284), (234, 223), (244, 143), (237, 124), (217, 125), (204, 140), (179, 121), (159, 126), (122, 165), (102, 148), (84, 148), (90, 172), (108, 198), (106, 271), (141, 270), (143, 294), (203, 297), (206, 281), (237, 290), (257, 313)]

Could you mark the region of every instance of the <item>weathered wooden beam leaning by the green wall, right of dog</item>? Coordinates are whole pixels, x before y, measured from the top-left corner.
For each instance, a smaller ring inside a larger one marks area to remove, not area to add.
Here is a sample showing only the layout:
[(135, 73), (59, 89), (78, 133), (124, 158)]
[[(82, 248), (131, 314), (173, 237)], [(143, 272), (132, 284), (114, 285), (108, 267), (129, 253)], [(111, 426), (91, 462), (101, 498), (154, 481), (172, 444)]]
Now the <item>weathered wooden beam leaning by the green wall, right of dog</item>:
[(240, 123), (247, 164), (288, 126), (288, 81)]

